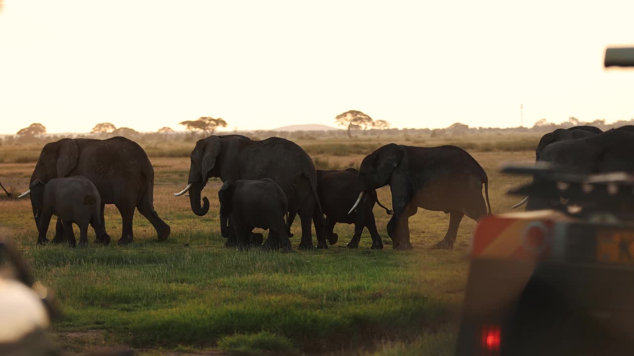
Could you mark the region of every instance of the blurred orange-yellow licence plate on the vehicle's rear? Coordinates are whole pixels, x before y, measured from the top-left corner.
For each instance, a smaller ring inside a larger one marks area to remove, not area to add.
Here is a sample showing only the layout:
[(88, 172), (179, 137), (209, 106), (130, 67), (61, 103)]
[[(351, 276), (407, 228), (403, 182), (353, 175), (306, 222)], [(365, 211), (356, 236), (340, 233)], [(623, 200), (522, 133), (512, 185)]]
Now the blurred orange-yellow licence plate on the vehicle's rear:
[(634, 264), (634, 231), (598, 231), (597, 261), (608, 264)]

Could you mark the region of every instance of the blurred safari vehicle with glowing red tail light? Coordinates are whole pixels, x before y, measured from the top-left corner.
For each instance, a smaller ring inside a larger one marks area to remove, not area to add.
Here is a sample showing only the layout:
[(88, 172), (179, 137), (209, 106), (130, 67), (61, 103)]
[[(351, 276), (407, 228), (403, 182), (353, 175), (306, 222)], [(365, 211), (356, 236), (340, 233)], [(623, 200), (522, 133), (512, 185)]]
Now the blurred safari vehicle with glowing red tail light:
[[(634, 48), (607, 49), (610, 66), (634, 67)], [(540, 176), (512, 194), (556, 190), (575, 205), (481, 220), (455, 354), (634, 353), (634, 175), (503, 171)]]

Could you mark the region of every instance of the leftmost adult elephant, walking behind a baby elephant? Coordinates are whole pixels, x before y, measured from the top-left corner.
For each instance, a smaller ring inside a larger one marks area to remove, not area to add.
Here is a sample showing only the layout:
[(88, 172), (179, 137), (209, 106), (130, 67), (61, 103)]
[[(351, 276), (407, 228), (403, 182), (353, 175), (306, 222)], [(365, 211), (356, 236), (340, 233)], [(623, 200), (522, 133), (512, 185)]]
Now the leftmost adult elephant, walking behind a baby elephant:
[[(47, 143), (36, 163), (30, 183), (83, 175), (93, 182), (101, 196), (101, 221), (106, 204), (114, 204), (123, 220), (119, 244), (133, 241), (134, 208), (150, 221), (159, 241), (167, 239), (169, 225), (160, 219), (153, 206), (154, 168), (143, 148), (125, 137), (110, 139), (60, 139)], [(27, 191), (20, 195), (26, 196)], [(55, 239), (64, 241), (64, 228), (57, 219)]]

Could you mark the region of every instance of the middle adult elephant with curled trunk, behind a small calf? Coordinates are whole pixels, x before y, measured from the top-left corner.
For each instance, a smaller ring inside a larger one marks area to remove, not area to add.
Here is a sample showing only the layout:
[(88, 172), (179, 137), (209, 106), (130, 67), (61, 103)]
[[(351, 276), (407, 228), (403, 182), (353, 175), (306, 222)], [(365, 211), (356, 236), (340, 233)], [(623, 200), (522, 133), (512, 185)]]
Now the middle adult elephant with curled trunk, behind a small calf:
[(297, 144), (280, 137), (252, 141), (242, 135), (209, 136), (198, 140), (190, 158), (188, 184), (174, 195), (189, 191), (191, 211), (196, 215), (203, 216), (209, 211), (209, 200), (203, 198), (201, 205), (200, 192), (210, 177), (219, 177), (223, 182), (269, 178), (286, 194), (288, 212), (297, 213), (301, 219), (299, 248), (313, 248), (312, 220), (317, 248), (328, 248), (313, 160)]

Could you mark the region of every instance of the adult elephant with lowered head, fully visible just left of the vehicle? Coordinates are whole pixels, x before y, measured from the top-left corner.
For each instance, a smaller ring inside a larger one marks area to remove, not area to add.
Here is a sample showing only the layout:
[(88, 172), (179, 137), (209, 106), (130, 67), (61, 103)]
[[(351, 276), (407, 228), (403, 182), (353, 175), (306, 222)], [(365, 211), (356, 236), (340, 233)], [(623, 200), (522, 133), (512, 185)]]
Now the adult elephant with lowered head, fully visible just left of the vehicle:
[(478, 220), (491, 213), (486, 172), (456, 146), (424, 148), (391, 143), (377, 148), (361, 162), (356, 182), (359, 196), (350, 212), (366, 192), (387, 184), (394, 210), (387, 234), (393, 248), (411, 248), (408, 219), (418, 208), (450, 214), (449, 229), (435, 248), (453, 248), (464, 215)]

